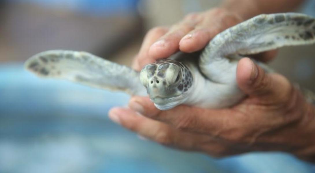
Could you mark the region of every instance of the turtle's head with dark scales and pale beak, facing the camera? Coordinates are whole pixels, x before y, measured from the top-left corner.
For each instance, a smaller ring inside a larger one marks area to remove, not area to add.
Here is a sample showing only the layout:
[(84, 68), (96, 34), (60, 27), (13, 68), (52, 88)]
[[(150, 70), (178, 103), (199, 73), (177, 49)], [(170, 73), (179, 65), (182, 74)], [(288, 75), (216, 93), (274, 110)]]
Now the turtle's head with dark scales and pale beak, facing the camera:
[(192, 73), (181, 62), (162, 59), (146, 65), (140, 81), (158, 109), (171, 109), (186, 100), (192, 86)]

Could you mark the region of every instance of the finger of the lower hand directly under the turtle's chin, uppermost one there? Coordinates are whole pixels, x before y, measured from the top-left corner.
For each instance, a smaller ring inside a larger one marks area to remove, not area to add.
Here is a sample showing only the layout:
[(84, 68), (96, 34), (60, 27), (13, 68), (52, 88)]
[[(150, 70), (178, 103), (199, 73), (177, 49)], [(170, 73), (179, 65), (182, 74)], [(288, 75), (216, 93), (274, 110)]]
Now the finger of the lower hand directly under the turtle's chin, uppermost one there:
[(132, 97), (129, 107), (148, 118), (165, 122), (176, 129), (214, 136), (219, 135), (226, 124), (233, 121), (233, 117), (231, 117), (233, 113), (230, 109), (201, 109), (180, 105), (170, 110), (161, 111), (155, 108), (147, 97)]

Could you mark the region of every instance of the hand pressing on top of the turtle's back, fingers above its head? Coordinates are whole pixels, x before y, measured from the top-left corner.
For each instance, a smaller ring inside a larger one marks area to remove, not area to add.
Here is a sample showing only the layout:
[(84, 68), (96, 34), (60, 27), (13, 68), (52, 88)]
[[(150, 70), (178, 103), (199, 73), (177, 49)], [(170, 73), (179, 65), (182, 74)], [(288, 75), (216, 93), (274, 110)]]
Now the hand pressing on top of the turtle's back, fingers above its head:
[[(146, 64), (167, 58), (177, 51), (191, 53), (203, 49), (221, 31), (242, 22), (236, 13), (225, 8), (213, 8), (205, 12), (188, 14), (171, 27), (156, 27), (145, 36), (133, 68), (140, 71)], [(263, 62), (272, 59), (276, 51), (268, 51), (251, 57)]]

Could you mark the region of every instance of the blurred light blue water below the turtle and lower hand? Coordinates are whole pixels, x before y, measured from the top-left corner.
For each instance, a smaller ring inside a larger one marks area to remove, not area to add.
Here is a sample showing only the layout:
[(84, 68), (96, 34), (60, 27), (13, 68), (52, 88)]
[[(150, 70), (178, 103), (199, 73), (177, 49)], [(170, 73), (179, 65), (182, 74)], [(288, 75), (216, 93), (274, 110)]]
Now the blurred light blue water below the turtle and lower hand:
[(213, 159), (173, 150), (112, 123), (129, 96), (40, 79), (0, 65), (0, 172), (314, 172), (283, 153)]

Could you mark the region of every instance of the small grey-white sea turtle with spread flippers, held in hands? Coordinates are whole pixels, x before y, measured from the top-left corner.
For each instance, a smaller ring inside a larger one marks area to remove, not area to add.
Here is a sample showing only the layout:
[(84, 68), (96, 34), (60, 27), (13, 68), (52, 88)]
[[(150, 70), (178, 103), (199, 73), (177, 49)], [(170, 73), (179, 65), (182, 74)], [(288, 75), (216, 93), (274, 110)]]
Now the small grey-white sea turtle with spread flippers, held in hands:
[(314, 18), (298, 13), (261, 14), (215, 36), (199, 58), (172, 56), (146, 65), (141, 72), (90, 53), (66, 50), (38, 53), (25, 66), (40, 77), (149, 95), (161, 110), (179, 104), (224, 108), (245, 96), (236, 83), (240, 55), (313, 43)]

